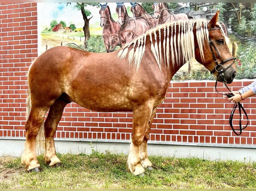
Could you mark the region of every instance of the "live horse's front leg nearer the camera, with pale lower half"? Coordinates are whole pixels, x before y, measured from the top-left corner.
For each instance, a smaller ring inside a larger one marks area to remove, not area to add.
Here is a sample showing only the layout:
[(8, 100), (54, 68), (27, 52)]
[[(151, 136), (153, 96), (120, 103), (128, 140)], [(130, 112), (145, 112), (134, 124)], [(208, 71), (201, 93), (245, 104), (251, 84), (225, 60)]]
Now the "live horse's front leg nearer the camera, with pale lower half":
[(132, 142), (127, 160), (127, 169), (133, 175), (145, 172), (140, 158), (140, 147), (144, 140), (146, 128), (150, 123), (151, 114), (152, 107), (148, 104), (141, 105), (133, 111)]

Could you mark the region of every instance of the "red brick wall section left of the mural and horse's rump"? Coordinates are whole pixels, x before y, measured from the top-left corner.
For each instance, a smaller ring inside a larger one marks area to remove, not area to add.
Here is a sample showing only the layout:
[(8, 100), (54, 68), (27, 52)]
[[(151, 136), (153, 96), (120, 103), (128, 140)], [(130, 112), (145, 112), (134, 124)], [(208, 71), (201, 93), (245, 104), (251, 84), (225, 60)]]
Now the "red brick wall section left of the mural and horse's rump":
[(26, 72), (37, 54), (36, 3), (0, 3), (0, 137), (23, 137)]

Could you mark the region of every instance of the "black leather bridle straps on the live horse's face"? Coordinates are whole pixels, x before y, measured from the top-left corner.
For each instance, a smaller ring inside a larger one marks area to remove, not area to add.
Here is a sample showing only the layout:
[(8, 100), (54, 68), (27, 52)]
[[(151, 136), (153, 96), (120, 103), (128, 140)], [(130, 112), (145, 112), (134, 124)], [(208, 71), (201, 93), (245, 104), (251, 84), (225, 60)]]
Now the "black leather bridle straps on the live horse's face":
[[(212, 28), (212, 29), (209, 29), (208, 31), (212, 31), (212, 30), (216, 30), (216, 29), (221, 30), (220, 28)], [(216, 63), (216, 66), (211, 71), (211, 74), (213, 74), (215, 71), (218, 72), (219, 74), (217, 75), (217, 77), (220, 76), (221, 81), (226, 83), (227, 81), (224, 78), (224, 72), (225, 72), (225, 70), (230, 68), (235, 63), (236, 58), (232, 57), (232, 58), (229, 58), (229, 59), (226, 59), (226, 60), (222, 60), (221, 55), (220, 55), (218, 49), (216, 48), (216, 46), (213, 43), (213, 40), (211, 40), (210, 37), (209, 37), (209, 45), (210, 45), (211, 52), (212, 52), (212, 55), (213, 55), (213, 58), (214, 58), (214, 62)], [(216, 56), (215, 56), (215, 54), (213, 52), (213, 48), (217, 52), (218, 57), (221, 59), (221, 63), (218, 63), (218, 60), (217, 60), (217, 58), (216, 58)], [(231, 60), (234, 60), (234, 62), (232, 64), (230, 64), (227, 68), (224, 68), (223, 64), (225, 64), (226, 62), (231, 61)]]

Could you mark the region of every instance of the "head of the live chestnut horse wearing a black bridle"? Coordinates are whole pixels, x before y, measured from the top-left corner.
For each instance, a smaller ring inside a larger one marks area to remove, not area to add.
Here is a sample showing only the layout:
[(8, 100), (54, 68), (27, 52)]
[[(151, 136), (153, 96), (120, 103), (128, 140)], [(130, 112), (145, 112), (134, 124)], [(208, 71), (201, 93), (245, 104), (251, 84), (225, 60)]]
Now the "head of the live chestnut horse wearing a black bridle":
[(228, 38), (225, 36), (221, 24), (218, 23), (219, 11), (209, 21), (207, 29), (209, 31), (209, 42), (203, 45), (203, 58), (195, 42), (195, 57), (202, 63), (214, 76), (217, 81), (232, 83), (236, 76), (235, 59), (232, 57), (227, 45)]

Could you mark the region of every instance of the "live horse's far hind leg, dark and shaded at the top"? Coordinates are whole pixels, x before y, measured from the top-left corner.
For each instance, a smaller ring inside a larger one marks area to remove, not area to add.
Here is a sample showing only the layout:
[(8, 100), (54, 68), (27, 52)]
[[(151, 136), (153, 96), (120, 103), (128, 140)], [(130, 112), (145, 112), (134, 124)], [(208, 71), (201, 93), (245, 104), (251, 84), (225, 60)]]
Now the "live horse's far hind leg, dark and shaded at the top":
[(45, 135), (45, 155), (44, 161), (49, 166), (56, 166), (60, 164), (60, 160), (56, 156), (56, 150), (54, 145), (54, 134), (57, 130), (57, 125), (61, 119), (62, 112), (67, 102), (58, 98), (54, 104), (50, 107), (48, 116), (44, 122), (44, 135)]

